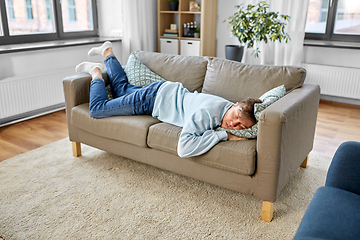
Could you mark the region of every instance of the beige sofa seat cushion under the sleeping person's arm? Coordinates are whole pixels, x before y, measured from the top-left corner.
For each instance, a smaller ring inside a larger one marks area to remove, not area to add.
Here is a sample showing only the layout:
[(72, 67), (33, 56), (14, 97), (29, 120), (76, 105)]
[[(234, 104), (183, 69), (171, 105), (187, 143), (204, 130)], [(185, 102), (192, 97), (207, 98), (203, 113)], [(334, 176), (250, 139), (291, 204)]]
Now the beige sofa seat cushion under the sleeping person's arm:
[[(182, 128), (168, 123), (150, 126), (148, 146), (177, 155), (177, 144)], [(218, 143), (209, 152), (190, 160), (207, 166), (252, 175), (255, 172), (256, 140)]]

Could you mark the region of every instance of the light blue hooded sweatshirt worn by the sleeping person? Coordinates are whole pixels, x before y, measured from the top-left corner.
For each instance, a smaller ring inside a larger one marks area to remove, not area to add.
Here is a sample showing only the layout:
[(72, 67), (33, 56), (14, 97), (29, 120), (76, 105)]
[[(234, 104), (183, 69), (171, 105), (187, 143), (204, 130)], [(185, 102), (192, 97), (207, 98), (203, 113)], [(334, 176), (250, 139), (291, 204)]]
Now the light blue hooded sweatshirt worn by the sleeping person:
[(191, 93), (178, 82), (165, 82), (156, 95), (152, 116), (182, 127), (178, 155), (193, 157), (227, 140), (225, 131), (214, 129), (221, 125), (226, 111), (233, 104), (218, 96)]

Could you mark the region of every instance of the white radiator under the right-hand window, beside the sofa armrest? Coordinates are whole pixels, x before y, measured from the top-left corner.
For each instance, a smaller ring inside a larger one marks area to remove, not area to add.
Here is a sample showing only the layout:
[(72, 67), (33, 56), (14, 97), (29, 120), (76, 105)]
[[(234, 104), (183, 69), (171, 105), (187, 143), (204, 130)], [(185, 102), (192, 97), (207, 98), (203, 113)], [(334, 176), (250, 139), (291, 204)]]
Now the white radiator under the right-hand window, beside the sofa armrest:
[(318, 84), (321, 94), (360, 99), (360, 69), (317, 64), (302, 64), (305, 83)]

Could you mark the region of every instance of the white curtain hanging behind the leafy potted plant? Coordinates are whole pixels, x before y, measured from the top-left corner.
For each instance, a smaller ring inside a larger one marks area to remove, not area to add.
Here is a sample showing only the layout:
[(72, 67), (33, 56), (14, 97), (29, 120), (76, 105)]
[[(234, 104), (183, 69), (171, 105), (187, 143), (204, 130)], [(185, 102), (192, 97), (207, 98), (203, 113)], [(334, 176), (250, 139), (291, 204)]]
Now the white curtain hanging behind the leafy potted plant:
[[(257, 4), (258, 0), (245, 0), (245, 4)], [(246, 49), (242, 62), (266, 65), (293, 65), (300, 66), (303, 53), (305, 36), (305, 23), (309, 0), (266, 0), (270, 4), (270, 11), (290, 15), (286, 32), (291, 41), (288, 43), (270, 42), (267, 44), (257, 43), (260, 49), (260, 57), (251, 55), (253, 49)]]

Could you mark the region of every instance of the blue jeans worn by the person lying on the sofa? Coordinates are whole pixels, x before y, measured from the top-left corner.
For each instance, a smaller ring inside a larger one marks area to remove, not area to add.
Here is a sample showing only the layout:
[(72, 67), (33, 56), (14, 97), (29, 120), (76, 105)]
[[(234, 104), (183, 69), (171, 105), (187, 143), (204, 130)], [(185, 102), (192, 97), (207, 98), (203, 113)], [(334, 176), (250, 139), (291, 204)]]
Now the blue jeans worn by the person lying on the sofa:
[(131, 85), (114, 55), (105, 59), (105, 65), (114, 99), (108, 99), (104, 80), (94, 78), (90, 84), (90, 115), (94, 118), (151, 115), (158, 89), (165, 81), (144, 87)]

